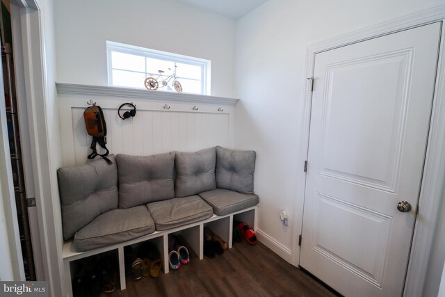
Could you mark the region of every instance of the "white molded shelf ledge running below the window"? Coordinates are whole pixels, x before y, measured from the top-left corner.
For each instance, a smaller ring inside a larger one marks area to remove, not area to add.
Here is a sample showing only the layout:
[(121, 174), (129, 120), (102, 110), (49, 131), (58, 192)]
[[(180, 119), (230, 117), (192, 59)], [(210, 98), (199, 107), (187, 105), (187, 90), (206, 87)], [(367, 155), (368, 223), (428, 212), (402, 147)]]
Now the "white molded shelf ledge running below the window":
[(236, 103), (239, 101), (239, 99), (229, 97), (216, 97), (188, 93), (170, 93), (160, 90), (143, 90), (138, 88), (90, 86), (76, 83), (56, 83), (56, 88), (59, 94), (152, 99), (163, 102), (193, 102), (235, 106)]

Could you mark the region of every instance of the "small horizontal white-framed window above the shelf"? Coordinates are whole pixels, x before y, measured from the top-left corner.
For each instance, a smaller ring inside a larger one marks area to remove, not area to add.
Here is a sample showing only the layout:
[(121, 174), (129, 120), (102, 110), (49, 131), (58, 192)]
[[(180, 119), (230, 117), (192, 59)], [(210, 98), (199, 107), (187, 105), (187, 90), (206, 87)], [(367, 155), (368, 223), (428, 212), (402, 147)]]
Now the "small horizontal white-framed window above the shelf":
[[(158, 90), (175, 91), (172, 83), (176, 75), (184, 93), (210, 95), (209, 60), (111, 41), (106, 42), (106, 49), (108, 86), (145, 88), (145, 79), (154, 77)], [(168, 81), (166, 86), (163, 79)]]

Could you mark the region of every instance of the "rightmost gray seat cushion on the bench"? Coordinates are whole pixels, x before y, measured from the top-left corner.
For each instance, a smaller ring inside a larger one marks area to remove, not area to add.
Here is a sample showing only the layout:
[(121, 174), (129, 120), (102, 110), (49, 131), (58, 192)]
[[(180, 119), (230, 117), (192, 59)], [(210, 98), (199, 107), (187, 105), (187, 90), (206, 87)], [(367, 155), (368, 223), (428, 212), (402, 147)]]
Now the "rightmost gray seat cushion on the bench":
[(200, 193), (200, 196), (213, 207), (213, 212), (218, 216), (253, 207), (259, 202), (255, 194), (243, 194), (223, 188)]

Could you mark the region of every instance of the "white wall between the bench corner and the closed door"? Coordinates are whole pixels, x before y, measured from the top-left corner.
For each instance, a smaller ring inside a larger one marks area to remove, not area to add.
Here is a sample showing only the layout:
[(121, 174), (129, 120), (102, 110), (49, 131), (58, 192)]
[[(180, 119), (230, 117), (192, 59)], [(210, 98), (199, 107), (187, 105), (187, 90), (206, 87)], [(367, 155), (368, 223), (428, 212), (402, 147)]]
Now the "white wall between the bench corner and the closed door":
[(301, 120), (307, 45), (443, 3), (273, 0), (238, 20), (235, 147), (257, 151), (259, 238), (284, 259), (293, 259), (300, 234), (293, 225), (301, 218), (290, 216), (283, 227), (279, 211), (302, 211), (294, 203), (305, 182), (300, 156), (307, 150)]

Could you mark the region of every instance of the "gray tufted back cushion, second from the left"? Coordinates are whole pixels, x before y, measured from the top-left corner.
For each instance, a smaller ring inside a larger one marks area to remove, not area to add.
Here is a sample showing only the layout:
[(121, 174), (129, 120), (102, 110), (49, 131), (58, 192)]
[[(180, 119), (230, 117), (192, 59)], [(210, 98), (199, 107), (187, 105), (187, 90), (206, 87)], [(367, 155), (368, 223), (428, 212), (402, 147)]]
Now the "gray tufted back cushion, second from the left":
[(118, 154), (119, 208), (175, 198), (175, 153), (152, 156)]

